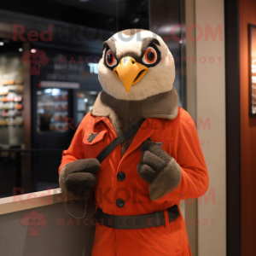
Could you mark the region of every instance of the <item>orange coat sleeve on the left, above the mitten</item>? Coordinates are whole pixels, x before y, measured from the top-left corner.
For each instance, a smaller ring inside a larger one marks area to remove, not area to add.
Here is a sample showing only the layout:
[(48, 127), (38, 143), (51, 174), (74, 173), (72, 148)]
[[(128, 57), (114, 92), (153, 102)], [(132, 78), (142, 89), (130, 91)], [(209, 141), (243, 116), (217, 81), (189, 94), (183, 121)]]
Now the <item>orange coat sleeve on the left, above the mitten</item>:
[(84, 159), (83, 138), (84, 138), (84, 125), (86, 125), (86, 122), (87, 122), (87, 115), (84, 117), (84, 119), (82, 120), (81, 124), (78, 127), (78, 130), (74, 134), (73, 140), (70, 143), (69, 148), (67, 148), (67, 150), (64, 150), (62, 153), (61, 166), (59, 167), (59, 174), (61, 172), (61, 168), (66, 164), (74, 160)]

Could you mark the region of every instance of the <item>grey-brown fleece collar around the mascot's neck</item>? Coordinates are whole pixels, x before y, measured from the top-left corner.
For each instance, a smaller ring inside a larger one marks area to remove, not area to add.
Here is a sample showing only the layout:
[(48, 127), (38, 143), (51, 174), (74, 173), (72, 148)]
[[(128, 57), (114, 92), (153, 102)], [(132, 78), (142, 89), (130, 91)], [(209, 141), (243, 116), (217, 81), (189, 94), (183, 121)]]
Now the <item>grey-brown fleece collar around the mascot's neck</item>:
[(144, 119), (175, 119), (178, 113), (178, 103), (177, 90), (174, 86), (172, 90), (150, 96), (142, 101), (118, 100), (102, 90), (90, 113), (97, 117), (109, 118), (113, 112), (119, 115), (129, 109), (131, 112), (140, 112)]

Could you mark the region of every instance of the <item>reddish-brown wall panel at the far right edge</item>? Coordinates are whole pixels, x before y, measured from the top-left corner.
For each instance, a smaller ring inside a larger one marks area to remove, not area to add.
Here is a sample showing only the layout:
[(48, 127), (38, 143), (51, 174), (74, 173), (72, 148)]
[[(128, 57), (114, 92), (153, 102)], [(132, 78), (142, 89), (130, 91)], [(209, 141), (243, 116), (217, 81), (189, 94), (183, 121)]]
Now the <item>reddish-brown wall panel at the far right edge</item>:
[(241, 91), (241, 255), (256, 251), (256, 119), (249, 118), (249, 23), (256, 25), (256, 1), (240, 0), (240, 91)]

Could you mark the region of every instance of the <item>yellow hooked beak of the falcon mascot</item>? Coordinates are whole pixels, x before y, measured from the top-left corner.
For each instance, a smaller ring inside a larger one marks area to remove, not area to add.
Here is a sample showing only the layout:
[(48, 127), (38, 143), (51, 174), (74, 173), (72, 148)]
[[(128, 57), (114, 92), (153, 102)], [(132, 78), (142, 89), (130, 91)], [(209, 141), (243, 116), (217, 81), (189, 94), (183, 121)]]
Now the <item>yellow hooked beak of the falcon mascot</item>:
[(119, 65), (113, 68), (113, 73), (124, 84), (127, 92), (131, 90), (131, 85), (137, 84), (147, 72), (148, 67), (138, 63), (130, 56), (124, 57)]

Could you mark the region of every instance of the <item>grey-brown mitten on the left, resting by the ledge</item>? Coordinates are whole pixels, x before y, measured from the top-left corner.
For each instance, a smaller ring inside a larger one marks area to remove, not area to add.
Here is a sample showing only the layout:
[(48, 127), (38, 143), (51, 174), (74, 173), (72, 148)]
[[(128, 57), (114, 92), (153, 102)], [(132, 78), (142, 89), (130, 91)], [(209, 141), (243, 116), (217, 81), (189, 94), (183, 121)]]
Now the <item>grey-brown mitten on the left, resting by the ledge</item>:
[(75, 160), (63, 166), (59, 177), (62, 191), (74, 199), (88, 199), (97, 183), (96, 172), (100, 167), (100, 162), (95, 158)]

